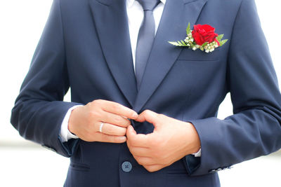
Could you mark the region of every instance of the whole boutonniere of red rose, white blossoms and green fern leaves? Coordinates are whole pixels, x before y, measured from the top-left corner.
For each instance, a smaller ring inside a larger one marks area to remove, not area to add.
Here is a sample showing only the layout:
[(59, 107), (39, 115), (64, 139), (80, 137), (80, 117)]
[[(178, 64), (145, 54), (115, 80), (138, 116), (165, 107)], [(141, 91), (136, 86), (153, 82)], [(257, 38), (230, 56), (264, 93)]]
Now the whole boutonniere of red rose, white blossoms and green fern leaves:
[(194, 25), (194, 29), (190, 29), (190, 23), (186, 28), (186, 37), (181, 41), (169, 41), (174, 46), (188, 47), (192, 50), (200, 49), (206, 53), (212, 52), (215, 48), (223, 46), (228, 39), (223, 39), (223, 34), (216, 34), (215, 28), (210, 25)]

